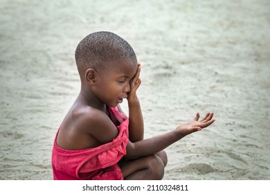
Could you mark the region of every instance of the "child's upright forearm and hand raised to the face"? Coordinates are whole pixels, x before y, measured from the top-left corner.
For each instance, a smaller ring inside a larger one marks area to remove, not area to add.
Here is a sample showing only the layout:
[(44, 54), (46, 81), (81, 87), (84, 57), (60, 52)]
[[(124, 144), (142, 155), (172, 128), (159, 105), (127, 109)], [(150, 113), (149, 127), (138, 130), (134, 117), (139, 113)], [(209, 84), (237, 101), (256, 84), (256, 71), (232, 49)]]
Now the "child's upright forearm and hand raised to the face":
[(138, 64), (137, 72), (130, 82), (130, 91), (127, 96), (129, 107), (129, 140), (132, 142), (143, 140), (144, 134), (143, 114), (141, 112), (140, 101), (136, 95), (136, 91), (141, 85), (141, 79), (139, 78), (140, 72), (141, 65)]

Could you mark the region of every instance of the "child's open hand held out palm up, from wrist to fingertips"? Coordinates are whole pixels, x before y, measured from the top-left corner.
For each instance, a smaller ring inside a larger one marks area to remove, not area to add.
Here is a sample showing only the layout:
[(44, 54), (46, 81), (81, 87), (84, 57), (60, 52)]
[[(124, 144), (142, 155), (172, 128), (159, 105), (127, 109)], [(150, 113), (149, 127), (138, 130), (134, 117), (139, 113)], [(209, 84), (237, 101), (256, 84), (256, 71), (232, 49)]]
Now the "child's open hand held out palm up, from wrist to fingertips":
[(199, 113), (195, 116), (195, 118), (188, 123), (183, 123), (182, 125), (179, 125), (177, 127), (178, 132), (182, 136), (186, 136), (188, 134), (191, 134), (192, 132), (200, 131), (201, 129), (208, 127), (212, 123), (215, 122), (215, 119), (213, 118), (213, 113), (208, 113), (206, 116), (204, 116), (201, 121), (199, 121)]

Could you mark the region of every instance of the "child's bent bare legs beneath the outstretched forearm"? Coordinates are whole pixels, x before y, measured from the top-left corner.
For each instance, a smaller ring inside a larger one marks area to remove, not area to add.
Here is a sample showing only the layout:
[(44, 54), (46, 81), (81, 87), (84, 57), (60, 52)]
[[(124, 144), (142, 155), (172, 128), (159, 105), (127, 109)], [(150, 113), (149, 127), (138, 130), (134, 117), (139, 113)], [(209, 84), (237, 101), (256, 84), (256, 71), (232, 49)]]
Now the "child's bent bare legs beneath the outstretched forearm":
[(167, 155), (165, 151), (161, 151), (156, 155), (122, 161), (119, 166), (124, 179), (152, 180), (163, 178), (165, 164), (167, 164)]

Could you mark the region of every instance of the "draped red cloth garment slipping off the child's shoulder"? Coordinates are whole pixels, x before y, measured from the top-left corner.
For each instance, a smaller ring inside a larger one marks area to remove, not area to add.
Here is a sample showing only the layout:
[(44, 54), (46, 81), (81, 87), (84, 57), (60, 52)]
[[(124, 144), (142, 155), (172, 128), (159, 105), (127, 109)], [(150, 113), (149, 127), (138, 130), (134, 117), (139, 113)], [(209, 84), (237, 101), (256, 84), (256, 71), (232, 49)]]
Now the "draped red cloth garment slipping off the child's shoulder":
[(118, 161), (126, 155), (129, 119), (109, 108), (111, 120), (118, 127), (118, 136), (110, 143), (84, 150), (64, 150), (53, 143), (53, 179), (123, 179)]

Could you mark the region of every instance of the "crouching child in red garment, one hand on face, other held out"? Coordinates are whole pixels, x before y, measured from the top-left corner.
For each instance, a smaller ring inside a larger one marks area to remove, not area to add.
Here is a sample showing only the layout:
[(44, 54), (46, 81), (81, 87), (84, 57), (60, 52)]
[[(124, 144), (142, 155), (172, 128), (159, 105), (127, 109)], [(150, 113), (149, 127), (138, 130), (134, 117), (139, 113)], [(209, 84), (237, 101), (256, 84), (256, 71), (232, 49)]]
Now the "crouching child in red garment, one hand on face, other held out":
[[(163, 149), (212, 124), (213, 113), (143, 139), (143, 116), (136, 96), (141, 65), (132, 47), (109, 32), (92, 33), (75, 51), (81, 80), (78, 98), (55, 136), (54, 179), (162, 179)], [(119, 104), (127, 98), (129, 118)]]

